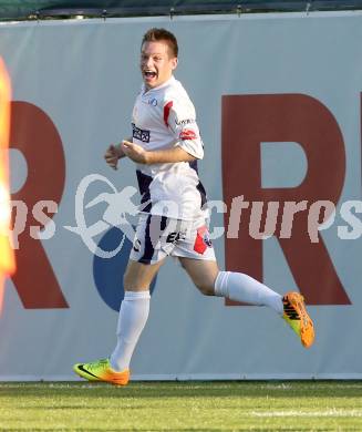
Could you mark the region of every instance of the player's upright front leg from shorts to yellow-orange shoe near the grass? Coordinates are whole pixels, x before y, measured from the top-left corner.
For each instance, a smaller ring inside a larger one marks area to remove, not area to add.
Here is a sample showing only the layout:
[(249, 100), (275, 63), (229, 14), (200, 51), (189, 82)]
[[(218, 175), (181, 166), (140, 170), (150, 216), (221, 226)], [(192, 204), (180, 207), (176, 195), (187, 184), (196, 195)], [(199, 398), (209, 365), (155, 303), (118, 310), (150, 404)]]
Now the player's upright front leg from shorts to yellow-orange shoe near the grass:
[(75, 364), (74, 371), (81, 377), (118, 385), (128, 382), (131, 358), (148, 318), (149, 285), (166, 256), (159, 241), (165, 227), (162, 218), (154, 223), (151, 215), (139, 218), (124, 275), (125, 295), (118, 316), (117, 344), (110, 359)]

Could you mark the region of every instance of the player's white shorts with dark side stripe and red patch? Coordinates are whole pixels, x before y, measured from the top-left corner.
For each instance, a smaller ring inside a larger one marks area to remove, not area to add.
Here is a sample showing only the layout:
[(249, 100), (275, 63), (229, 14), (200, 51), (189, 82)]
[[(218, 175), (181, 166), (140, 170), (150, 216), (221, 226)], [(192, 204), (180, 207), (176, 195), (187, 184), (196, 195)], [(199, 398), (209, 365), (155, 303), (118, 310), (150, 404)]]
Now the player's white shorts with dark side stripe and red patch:
[(179, 220), (141, 214), (130, 259), (156, 264), (167, 256), (215, 261), (205, 219)]

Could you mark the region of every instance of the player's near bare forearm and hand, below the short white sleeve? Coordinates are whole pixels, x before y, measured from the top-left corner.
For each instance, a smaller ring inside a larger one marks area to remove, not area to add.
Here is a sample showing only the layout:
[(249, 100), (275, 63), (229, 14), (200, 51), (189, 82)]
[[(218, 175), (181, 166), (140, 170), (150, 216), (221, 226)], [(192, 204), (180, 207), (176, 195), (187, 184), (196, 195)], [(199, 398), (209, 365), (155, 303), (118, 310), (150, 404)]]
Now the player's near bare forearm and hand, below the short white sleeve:
[(122, 142), (122, 151), (133, 162), (145, 165), (192, 162), (196, 158), (180, 146), (147, 152), (141, 145), (128, 141)]

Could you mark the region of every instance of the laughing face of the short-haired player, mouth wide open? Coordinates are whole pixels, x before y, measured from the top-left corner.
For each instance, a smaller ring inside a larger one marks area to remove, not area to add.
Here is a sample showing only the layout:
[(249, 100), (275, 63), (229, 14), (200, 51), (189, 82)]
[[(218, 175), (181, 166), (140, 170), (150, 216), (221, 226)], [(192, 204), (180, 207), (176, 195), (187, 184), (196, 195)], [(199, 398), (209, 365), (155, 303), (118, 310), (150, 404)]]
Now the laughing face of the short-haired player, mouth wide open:
[(166, 42), (145, 42), (141, 50), (141, 72), (146, 89), (154, 89), (168, 81), (177, 66), (177, 58)]

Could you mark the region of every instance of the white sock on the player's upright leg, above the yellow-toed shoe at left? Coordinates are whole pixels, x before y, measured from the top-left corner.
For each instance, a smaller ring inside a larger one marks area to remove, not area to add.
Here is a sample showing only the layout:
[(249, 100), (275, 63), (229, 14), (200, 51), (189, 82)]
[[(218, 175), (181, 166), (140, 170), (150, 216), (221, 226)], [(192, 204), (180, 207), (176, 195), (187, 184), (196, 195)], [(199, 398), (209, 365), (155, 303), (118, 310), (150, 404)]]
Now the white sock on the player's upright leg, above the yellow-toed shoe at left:
[(117, 346), (110, 362), (116, 371), (128, 369), (131, 357), (144, 329), (149, 312), (148, 291), (126, 291), (117, 323)]

